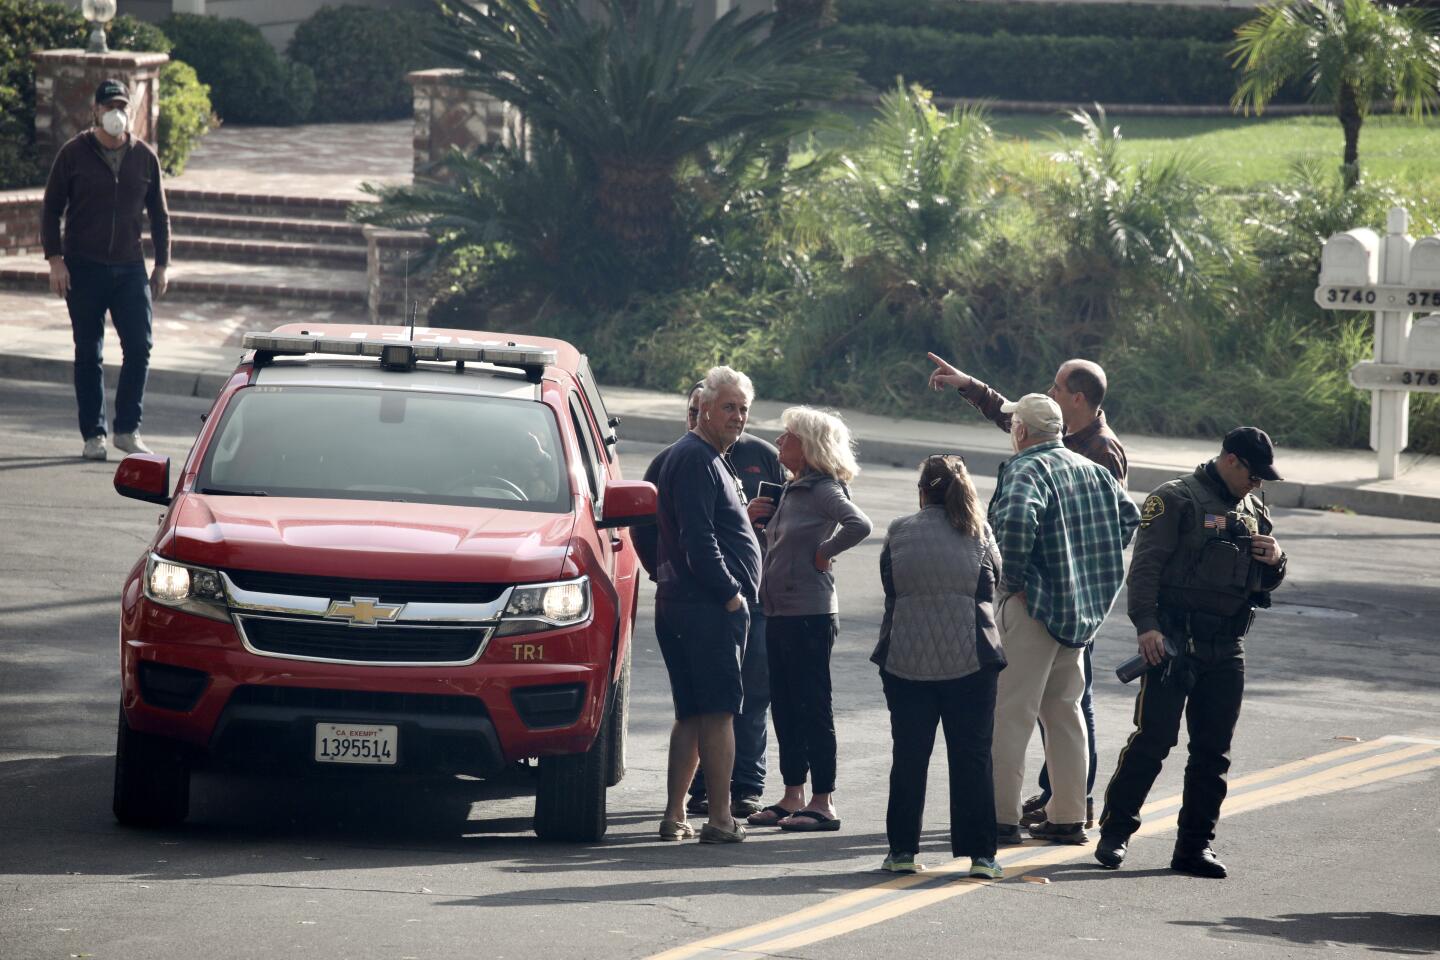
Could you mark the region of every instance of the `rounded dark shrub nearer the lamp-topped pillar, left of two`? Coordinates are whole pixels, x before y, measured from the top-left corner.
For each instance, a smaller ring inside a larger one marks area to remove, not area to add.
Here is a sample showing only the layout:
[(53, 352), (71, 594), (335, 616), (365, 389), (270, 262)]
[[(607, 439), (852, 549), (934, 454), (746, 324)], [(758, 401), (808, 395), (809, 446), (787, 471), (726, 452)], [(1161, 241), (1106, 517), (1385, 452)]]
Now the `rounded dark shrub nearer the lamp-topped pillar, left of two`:
[(210, 86), (215, 112), (238, 124), (300, 124), (308, 119), (315, 78), (282, 60), (259, 27), (243, 20), (176, 13), (160, 23), (174, 58), (194, 66)]

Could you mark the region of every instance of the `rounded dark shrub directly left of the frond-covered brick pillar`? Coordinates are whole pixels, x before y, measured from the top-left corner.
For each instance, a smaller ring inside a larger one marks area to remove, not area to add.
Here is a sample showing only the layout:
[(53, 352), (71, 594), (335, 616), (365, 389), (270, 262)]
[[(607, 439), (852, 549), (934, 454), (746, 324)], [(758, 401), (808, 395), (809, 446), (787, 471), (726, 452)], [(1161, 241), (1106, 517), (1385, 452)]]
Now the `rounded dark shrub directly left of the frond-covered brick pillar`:
[(321, 7), (295, 29), (289, 59), (315, 75), (317, 119), (397, 119), (413, 98), (405, 75), (432, 65), (436, 17), (416, 10)]

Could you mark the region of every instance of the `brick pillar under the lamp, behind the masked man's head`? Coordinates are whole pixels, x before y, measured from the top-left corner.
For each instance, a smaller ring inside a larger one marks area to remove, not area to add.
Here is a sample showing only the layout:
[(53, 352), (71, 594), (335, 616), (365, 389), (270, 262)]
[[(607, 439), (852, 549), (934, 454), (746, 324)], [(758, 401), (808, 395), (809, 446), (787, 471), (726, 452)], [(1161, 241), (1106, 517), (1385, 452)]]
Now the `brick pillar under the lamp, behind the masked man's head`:
[(160, 68), (168, 53), (39, 50), (35, 60), (35, 144), (46, 166), (92, 119), (95, 88), (114, 79), (130, 88), (131, 132), (151, 147), (160, 130)]

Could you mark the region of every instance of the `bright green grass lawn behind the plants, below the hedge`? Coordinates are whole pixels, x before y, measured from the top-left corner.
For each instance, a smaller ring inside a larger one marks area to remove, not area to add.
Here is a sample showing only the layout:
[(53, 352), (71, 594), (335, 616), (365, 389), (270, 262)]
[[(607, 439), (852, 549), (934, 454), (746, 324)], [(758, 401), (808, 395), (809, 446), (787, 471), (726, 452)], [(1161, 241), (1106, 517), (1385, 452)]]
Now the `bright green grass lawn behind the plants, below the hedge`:
[[(868, 108), (847, 114), (864, 122)], [(1061, 114), (996, 112), (991, 124), (1009, 150), (1038, 153), (1050, 153), (1056, 137), (1073, 137), (1077, 130)], [(1110, 117), (1109, 124), (1119, 125), (1128, 155), (1191, 151), (1211, 164), (1215, 183), (1234, 190), (1283, 180), (1296, 160), (1339, 167), (1345, 145), (1332, 117)], [(1440, 119), (1371, 117), (1359, 134), (1359, 163), (1367, 177), (1395, 181), (1417, 206), (1434, 203), (1440, 197)]]

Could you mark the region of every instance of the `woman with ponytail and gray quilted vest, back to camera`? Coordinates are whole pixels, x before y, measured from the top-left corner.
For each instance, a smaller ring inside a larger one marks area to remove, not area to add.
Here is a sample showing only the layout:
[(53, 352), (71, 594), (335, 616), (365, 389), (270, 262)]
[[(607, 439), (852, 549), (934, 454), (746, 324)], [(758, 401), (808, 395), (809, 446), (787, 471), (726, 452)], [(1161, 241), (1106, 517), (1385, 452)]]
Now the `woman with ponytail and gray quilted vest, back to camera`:
[(880, 554), (886, 612), (870, 658), (890, 708), (893, 740), (881, 869), (913, 874), (926, 771), (945, 727), (950, 767), (950, 852), (971, 877), (998, 879), (991, 735), (996, 674), (1005, 666), (994, 597), (1001, 560), (965, 459), (920, 465), (919, 512), (890, 524)]

